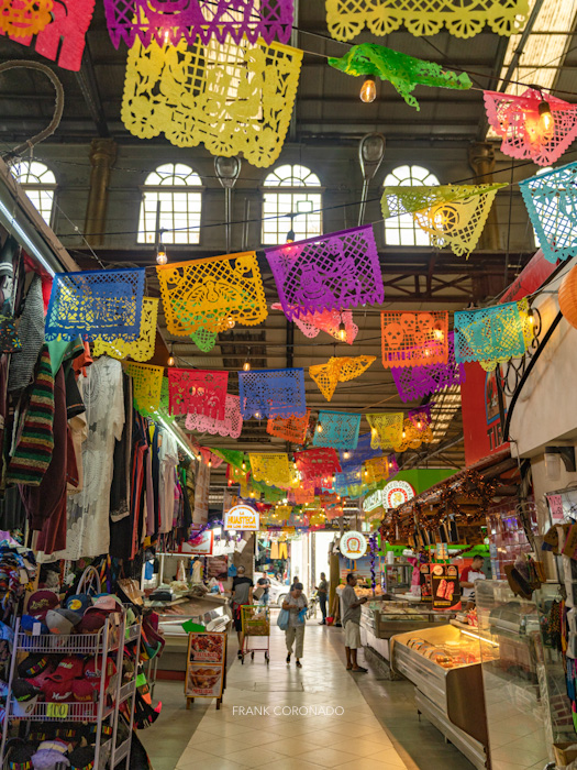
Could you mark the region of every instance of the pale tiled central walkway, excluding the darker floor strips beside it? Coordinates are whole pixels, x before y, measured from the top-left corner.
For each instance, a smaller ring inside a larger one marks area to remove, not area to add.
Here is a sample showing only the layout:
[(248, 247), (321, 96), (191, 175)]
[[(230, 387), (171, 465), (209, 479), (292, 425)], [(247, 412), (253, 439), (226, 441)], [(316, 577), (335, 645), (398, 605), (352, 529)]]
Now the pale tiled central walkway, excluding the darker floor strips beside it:
[[(177, 770), (406, 768), (357, 686), (358, 676), (370, 674), (345, 670), (330, 640), (336, 635), (337, 629), (308, 625), (298, 670), (295, 660), (287, 666), (285, 635), (274, 627), (270, 666), (263, 652), (254, 662), (232, 664), (220, 712), (209, 708)], [(268, 714), (251, 711), (265, 707)], [(323, 707), (340, 715), (322, 715)]]

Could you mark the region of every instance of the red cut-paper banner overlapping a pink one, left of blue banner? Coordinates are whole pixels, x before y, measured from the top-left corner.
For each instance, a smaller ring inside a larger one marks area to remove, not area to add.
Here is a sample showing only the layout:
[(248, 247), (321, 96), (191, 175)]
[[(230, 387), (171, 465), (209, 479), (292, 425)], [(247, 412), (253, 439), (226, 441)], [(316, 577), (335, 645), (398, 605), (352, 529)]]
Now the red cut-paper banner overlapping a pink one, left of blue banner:
[(199, 369), (168, 370), (168, 400), (171, 415), (206, 415), (223, 420), (229, 372)]

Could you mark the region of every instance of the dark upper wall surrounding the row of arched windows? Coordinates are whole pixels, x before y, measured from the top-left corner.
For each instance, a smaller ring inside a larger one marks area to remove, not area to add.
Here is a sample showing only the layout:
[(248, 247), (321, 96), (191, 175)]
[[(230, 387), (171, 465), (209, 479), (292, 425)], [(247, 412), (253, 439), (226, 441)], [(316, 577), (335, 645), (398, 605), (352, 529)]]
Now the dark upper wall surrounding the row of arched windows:
[[(89, 144), (49, 144), (38, 146), (35, 157), (47, 163), (56, 174), (58, 182), (57, 211), (55, 231), (67, 246), (81, 244), (81, 239), (75, 234), (82, 232), (90, 179)], [(114, 164), (108, 207), (108, 221), (104, 248), (134, 249), (141, 199), (141, 186), (146, 175), (162, 163), (180, 162), (191, 165), (202, 178), (206, 187), (203, 194), (203, 212), (201, 242), (199, 246), (175, 246), (171, 251), (182, 254), (199, 250), (224, 249), (224, 231), (222, 227), (211, 227), (224, 220), (224, 191), (214, 174), (214, 160), (203, 147), (192, 150), (179, 148), (166, 142), (140, 142), (137, 144), (121, 144)], [(357, 223), (358, 206), (343, 208), (344, 204), (353, 204), (360, 198), (363, 178), (357, 160), (356, 142), (339, 145), (307, 145), (287, 144), (276, 165), (284, 163), (301, 163), (310, 167), (321, 179), (324, 189), (323, 205), (325, 232), (354, 227)], [(380, 248), (384, 243), (384, 228), (380, 213), (379, 198), (385, 176), (402, 164), (423, 165), (433, 172), (441, 184), (462, 182), (471, 184), (473, 172), (468, 165), (467, 150), (433, 148), (433, 147), (391, 147), (387, 148), (385, 160), (375, 177), (370, 191), (370, 202), (367, 206), (365, 221), (375, 222), (375, 233)], [(508, 169), (511, 160), (498, 154), (497, 169)], [(233, 220), (245, 219), (245, 201), (249, 201), (249, 218), (260, 217), (260, 187), (271, 168), (256, 168), (243, 163), (241, 177), (237, 182), (233, 199)], [(533, 166), (523, 166), (515, 172), (514, 179), (531, 176), (536, 170)], [(510, 172), (498, 174), (497, 182), (509, 182)], [(510, 200), (511, 198), (511, 200)], [(512, 206), (512, 224), (509, 229), (509, 206)], [(509, 251), (511, 263), (514, 265), (515, 251), (530, 251), (533, 248), (532, 229), (526, 211), (517, 187), (504, 190), (497, 196), (497, 215), (500, 222), (500, 248)], [(70, 220), (70, 221), (69, 221)], [(287, 230), (288, 220), (287, 220)], [(233, 227), (233, 249), (242, 245), (243, 227)], [(260, 244), (260, 222), (252, 222), (248, 228), (248, 244), (256, 248)], [(149, 246), (145, 248), (148, 251)]]

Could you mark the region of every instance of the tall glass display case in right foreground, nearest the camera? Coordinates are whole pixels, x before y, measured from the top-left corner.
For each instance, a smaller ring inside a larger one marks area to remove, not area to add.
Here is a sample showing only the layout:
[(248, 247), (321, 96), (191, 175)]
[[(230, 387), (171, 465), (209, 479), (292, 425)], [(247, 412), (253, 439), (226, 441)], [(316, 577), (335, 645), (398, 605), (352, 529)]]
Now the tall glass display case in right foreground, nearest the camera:
[(507, 581), (482, 581), (476, 594), (492, 768), (541, 770), (554, 744), (576, 741), (563, 657), (548, 632), (559, 586), (546, 583), (526, 601)]

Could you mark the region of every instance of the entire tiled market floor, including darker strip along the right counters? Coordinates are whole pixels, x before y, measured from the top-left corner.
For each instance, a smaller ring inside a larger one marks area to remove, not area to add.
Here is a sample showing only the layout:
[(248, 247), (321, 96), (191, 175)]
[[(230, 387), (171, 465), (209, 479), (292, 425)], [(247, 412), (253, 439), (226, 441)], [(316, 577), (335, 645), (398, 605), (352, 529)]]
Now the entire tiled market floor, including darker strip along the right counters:
[[(193, 704), (185, 713), (188, 717), (175, 715), (180, 733), (190, 719), (190, 739), (175, 760), (177, 770), (470, 770), (431, 725), (418, 722), (408, 682), (386, 682), (378, 672), (354, 675), (345, 670), (340, 629), (308, 625), (300, 670), (295, 660), (290, 666), (285, 662), (284, 634), (276, 627), (270, 645), (268, 667), (262, 652), (244, 666), (234, 661), (220, 711), (212, 704), (208, 708)], [(268, 713), (258, 714), (257, 708)], [(323, 714), (323, 708), (336, 713)], [(166, 760), (156, 761), (158, 741), (154, 740), (156, 730), (163, 735), (164, 716), (146, 734), (154, 770), (168, 770)], [(392, 732), (384, 724), (389, 717)], [(396, 717), (404, 724), (397, 724)], [(432, 763), (435, 760), (439, 763)]]

